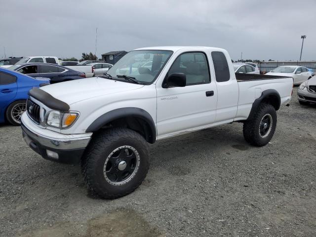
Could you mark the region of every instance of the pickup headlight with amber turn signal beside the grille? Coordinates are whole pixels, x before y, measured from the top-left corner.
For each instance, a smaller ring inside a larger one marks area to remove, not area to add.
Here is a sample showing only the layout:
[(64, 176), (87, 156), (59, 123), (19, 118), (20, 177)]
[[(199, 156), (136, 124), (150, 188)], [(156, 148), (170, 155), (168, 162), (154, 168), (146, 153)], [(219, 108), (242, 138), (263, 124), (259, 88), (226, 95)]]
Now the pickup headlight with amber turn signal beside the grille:
[(45, 116), (45, 123), (52, 127), (66, 128), (71, 126), (78, 117), (77, 112), (50, 111)]

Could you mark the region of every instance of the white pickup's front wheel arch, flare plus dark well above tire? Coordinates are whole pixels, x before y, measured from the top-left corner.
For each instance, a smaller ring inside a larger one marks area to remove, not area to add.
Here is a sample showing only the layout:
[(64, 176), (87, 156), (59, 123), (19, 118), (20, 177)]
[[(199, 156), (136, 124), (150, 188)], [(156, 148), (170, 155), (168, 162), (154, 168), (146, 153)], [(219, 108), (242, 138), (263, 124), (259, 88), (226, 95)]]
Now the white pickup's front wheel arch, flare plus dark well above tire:
[(134, 107), (112, 110), (95, 119), (85, 132), (96, 132), (102, 128), (127, 127), (140, 133), (147, 142), (156, 142), (156, 125), (145, 110)]

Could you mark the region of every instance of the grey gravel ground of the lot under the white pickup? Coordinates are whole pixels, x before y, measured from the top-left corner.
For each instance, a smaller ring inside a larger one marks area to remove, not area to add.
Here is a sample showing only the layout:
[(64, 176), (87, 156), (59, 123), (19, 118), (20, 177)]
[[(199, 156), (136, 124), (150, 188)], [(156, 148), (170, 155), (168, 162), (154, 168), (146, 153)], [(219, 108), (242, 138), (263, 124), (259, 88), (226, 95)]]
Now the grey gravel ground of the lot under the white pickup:
[(79, 165), (44, 160), (21, 129), (0, 126), (0, 236), (316, 236), (316, 106), (277, 112), (257, 148), (233, 123), (151, 146), (151, 168), (132, 194), (90, 197)]

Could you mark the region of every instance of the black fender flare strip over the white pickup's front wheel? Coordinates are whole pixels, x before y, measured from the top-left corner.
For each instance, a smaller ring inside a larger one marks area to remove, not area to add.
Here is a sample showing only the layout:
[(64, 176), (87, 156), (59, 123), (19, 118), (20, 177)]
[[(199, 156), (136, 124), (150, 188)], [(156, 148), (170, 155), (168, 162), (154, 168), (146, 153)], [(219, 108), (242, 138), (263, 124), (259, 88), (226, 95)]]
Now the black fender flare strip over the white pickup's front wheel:
[(144, 119), (150, 127), (152, 138), (150, 143), (155, 143), (157, 137), (156, 125), (152, 116), (145, 110), (135, 107), (126, 107), (109, 111), (99, 118), (95, 119), (86, 129), (85, 132), (96, 132), (102, 128), (105, 124), (124, 117), (136, 117)]

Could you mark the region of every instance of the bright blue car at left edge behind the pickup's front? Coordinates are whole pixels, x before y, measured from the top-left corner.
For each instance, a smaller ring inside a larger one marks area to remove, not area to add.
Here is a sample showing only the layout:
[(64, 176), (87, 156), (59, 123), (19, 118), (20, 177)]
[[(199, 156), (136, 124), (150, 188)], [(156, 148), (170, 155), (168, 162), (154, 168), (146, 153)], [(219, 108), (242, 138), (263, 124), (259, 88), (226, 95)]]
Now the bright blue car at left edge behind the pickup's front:
[(48, 78), (31, 78), (19, 72), (0, 68), (0, 122), (20, 125), (32, 87), (49, 84)]

